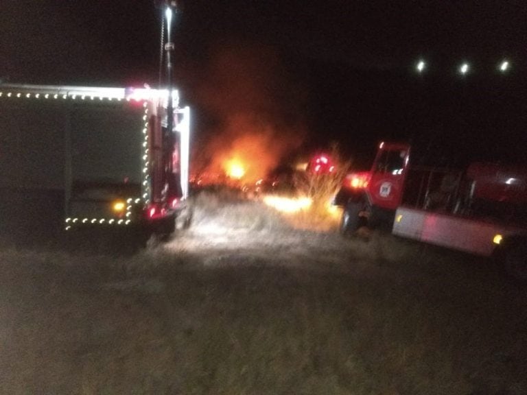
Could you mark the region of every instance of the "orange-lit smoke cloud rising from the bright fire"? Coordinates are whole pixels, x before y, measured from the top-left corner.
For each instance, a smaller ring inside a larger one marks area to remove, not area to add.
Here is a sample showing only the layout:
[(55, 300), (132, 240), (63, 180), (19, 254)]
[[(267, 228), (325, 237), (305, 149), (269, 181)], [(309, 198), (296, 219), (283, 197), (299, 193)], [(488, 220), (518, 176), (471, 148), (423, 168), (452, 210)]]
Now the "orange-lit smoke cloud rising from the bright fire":
[(225, 174), (235, 160), (244, 166), (243, 180), (252, 182), (301, 145), (302, 91), (272, 48), (218, 47), (204, 75), (198, 101), (212, 121), (196, 147), (194, 172)]

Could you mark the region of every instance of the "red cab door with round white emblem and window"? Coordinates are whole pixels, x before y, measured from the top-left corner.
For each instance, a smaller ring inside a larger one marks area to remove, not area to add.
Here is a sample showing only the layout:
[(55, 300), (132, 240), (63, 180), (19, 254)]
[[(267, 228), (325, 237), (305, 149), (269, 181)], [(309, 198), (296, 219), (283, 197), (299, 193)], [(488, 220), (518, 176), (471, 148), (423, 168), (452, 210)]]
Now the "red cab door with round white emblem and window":
[(395, 210), (401, 204), (409, 154), (408, 145), (380, 145), (368, 184), (374, 206)]

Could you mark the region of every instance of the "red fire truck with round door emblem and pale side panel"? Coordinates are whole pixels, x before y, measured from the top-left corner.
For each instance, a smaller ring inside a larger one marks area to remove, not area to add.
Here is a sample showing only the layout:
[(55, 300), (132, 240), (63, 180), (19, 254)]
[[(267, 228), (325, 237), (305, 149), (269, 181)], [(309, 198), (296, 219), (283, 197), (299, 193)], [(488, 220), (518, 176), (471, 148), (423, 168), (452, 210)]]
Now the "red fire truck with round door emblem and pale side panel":
[(496, 256), (527, 280), (527, 169), (472, 163), (465, 171), (410, 164), (410, 145), (380, 143), (370, 171), (349, 173), (334, 204), (340, 230), (394, 235)]

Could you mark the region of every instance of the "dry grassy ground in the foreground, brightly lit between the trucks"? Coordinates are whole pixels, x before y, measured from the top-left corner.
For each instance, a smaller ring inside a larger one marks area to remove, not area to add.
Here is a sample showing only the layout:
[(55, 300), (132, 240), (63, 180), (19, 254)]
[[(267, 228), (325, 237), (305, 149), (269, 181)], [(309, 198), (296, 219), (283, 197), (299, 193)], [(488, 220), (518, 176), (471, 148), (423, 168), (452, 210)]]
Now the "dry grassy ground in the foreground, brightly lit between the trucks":
[(527, 291), (478, 259), (207, 199), (133, 256), (0, 252), (1, 394), (526, 394)]

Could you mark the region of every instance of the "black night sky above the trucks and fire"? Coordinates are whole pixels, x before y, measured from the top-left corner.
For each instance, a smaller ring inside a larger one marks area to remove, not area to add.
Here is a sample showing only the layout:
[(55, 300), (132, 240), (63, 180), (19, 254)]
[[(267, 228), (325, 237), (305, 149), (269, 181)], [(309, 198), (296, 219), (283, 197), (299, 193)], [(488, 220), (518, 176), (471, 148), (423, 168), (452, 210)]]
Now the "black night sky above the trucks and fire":
[[(3, 0), (0, 78), (156, 87), (160, 14), (147, 0)], [(454, 165), (524, 160), (525, 1), (187, 0), (174, 40), (195, 148), (249, 114), (296, 135), (292, 149), (338, 141), (358, 165), (384, 139)]]

